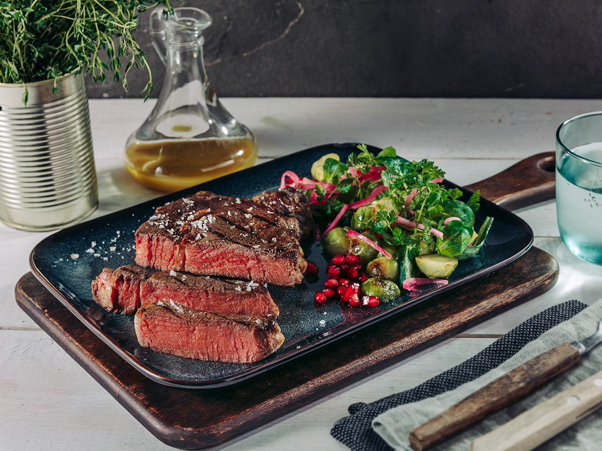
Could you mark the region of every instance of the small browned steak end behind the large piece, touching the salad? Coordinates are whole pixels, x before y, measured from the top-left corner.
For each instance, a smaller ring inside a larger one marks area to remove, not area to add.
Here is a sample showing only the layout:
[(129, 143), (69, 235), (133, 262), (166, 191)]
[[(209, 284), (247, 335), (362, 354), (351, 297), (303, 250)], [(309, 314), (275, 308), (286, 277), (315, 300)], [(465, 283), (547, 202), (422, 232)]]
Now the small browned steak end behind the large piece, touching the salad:
[(299, 221), (301, 237), (305, 238), (314, 231), (314, 218), (309, 209), (309, 198), (299, 189), (285, 186), (278, 191), (265, 191), (252, 197), (270, 210), (295, 218)]

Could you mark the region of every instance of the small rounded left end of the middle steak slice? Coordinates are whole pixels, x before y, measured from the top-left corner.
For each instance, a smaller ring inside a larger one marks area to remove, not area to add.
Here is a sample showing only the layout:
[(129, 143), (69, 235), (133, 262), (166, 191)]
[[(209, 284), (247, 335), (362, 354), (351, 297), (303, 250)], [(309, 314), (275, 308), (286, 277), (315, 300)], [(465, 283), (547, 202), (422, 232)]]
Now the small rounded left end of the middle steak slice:
[(140, 307), (140, 284), (150, 272), (140, 266), (105, 268), (92, 281), (93, 299), (113, 313), (134, 314)]

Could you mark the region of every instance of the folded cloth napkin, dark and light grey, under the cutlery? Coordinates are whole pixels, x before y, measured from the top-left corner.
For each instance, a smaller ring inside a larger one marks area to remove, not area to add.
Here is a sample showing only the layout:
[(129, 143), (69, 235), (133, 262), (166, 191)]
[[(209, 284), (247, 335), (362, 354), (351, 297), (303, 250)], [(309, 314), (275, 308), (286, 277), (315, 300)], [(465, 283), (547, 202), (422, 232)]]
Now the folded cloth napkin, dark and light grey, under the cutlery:
[[(562, 343), (582, 340), (594, 334), (600, 319), (602, 299), (589, 307), (579, 301), (550, 307), (500, 337), (479, 354), (417, 387), (370, 404), (351, 405), (351, 415), (340, 420), (330, 433), (352, 451), (411, 450), (408, 436), (412, 429), (530, 358)], [(600, 370), (602, 345), (553, 382), (432, 449), (467, 450), (474, 438)], [(599, 449), (602, 432), (598, 431), (602, 431), (602, 414), (593, 414), (554, 440), (542, 444), (538, 451)]]

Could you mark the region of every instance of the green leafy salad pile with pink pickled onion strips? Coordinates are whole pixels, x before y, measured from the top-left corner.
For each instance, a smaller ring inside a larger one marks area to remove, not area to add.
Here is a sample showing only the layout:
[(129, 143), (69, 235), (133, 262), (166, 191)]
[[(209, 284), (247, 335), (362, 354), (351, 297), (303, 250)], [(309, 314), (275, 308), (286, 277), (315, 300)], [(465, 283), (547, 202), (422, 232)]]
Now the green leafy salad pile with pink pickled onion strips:
[[(385, 251), (399, 264), (395, 277), (400, 286), (425, 275), (448, 277), (447, 272), (417, 265), (417, 256), (436, 254), (433, 264), (455, 262), (453, 271), (456, 260), (478, 253), (493, 220), (486, 218), (478, 232), (474, 230), (479, 191), (462, 201), (461, 190), (442, 185), (445, 173), (432, 161), (406, 161), (397, 157), (393, 147), (377, 155), (363, 144), (358, 149), (346, 162), (336, 154), (323, 156), (312, 166), (313, 180), (297, 177), (297, 187), (308, 194), (314, 217), (330, 222), (322, 236), (324, 250), (341, 250), (340, 243), (331, 245), (334, 236), (340, 241), (343, 235), (353, 239), (361, 233), (381, 257)], [(285, 183), (286, 174), (282, 180)]]

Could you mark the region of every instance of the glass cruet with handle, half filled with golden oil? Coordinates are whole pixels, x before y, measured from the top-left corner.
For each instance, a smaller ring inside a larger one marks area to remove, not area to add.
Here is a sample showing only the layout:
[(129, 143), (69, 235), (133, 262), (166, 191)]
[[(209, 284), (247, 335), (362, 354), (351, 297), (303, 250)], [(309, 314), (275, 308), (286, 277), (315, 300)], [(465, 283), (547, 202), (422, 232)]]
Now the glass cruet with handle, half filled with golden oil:
[(126, 143), (125, 166), (143, 185), (176, 191), (251, 167), (253, 133), (222, 106), (209, 85), (202, 31), (211, 17), (197, 8), (151, 14), (153, 44), (167, 68), (157, 104)]

